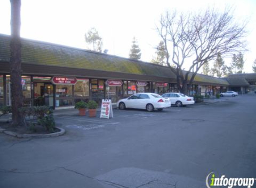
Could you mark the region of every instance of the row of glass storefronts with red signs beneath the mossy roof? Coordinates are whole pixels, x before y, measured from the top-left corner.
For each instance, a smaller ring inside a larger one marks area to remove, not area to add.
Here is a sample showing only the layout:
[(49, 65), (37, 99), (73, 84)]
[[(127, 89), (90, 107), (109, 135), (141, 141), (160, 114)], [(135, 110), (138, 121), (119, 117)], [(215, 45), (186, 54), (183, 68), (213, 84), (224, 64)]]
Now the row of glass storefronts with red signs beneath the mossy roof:
[[(100, 104), (102, 99), (108, 98), (114, 104), (136, 93), (164, 94), (172, 85), (161, 82), (22, 75), (24, 106), (46, 105), (54, 109), (74, 106), (80, 100), (95, 100)], [(11, 106), (10, 75), (0, 75), (0, 104)]]

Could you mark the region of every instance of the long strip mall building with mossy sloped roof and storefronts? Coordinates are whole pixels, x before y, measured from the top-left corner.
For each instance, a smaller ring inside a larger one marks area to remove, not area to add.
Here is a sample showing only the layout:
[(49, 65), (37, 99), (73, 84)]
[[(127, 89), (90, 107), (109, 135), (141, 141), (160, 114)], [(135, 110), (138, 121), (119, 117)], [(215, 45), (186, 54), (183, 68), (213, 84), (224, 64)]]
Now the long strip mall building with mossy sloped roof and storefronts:
[[(0, 34), (0, 106), (11, 104), (10, 36)], [(24, 104), (54, 108), (74, 106), (80, 100), (111, 98), (113, 103), (131, 94), (177, 91), (176, 76), (168, 67), (63, 45), (22, 39)], [(235, 90), (256, 93), (256, 74), (214, 78), (197, 74), (191, 93)]]

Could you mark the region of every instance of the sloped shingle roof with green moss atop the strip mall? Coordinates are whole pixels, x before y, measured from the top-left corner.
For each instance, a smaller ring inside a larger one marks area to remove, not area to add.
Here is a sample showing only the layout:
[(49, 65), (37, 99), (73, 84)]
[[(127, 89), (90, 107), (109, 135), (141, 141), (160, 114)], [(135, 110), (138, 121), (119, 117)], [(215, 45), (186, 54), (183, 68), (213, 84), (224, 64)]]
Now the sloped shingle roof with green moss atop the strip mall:
[[(2, 62), (9, 62), (9, 42), (10, 36), (0, 34), (0, 61)], [(168, 67), (152, 63), (23, 38), (21, 39), (21, 44), (22, 63), (26, 64), (101, 70), (176, 79), (175, 74)], [(195, 81), (228, 85), (228, 82), (224, 79), (202, 74), (197, 74)]]

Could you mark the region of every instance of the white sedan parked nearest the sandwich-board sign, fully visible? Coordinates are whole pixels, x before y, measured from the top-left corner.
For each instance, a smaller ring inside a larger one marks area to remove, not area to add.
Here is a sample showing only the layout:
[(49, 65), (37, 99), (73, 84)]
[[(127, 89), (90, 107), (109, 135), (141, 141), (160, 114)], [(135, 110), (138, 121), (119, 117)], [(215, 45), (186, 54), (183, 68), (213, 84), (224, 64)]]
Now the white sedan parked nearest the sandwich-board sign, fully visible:
[(118, 107), (121, 110), (126, 108), (146, 109), (151, 112), (155, 109), (163, 110), (164, 108), (171, 107), (169, 98), (163, 98), (159, 94), (154, 93), (140, 93), (131, 95), (118, 101)]

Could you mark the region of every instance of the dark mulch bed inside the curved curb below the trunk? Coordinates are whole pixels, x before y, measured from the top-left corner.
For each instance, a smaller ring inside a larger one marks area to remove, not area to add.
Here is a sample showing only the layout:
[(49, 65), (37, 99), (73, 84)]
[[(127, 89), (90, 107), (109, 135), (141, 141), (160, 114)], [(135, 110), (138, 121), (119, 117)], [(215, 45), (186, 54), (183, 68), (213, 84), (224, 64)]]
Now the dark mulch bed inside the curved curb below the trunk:
[[(17, 126), (13, 127), (10, 123), (0, 123), (0, 128), (6, 129), (7, 131), (12, 131), (21, 135), (45, 135), (53, 132), (46, 131), (45, 127), (41, 125), (34, 125), (33, 128), (25, 127), (25, 126)], [(59, 129), (55, 129), (54, 132), (59, 132)]]

